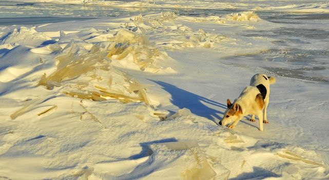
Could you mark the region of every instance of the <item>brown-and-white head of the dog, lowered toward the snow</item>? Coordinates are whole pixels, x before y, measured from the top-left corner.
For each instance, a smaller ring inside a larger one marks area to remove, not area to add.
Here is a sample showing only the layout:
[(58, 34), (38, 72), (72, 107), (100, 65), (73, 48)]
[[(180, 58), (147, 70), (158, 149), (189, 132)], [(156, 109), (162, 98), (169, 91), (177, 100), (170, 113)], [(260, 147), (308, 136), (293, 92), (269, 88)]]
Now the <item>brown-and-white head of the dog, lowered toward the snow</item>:
[(219, 121), (219, 124), (224, 126), (234, 121), (238, 121), (241, 118), (242, 118), (241, 106), (236, 102), (232, 104), (231, 101), (227, 99), (227, 110), (224, 112), (224, 116), (222, 120)]

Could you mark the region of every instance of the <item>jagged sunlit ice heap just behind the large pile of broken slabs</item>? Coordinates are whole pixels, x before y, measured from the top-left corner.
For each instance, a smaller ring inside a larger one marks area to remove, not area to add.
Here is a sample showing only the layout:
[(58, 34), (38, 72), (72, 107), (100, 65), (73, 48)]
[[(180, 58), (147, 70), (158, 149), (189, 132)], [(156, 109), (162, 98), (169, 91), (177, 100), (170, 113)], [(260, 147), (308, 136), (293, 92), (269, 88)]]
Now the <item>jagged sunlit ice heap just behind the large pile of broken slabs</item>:
[[(149, 43), (141, 27), (129, 23), (111, 31), (91, 28), (70, 34), (62, 33), (58, 43), (67, 44), (71, 40), (87, 50), (90, 50), (93, 44), (107, 46), (104, 56), (113, 66), (150, 73), (176, 73), (170, 67), (163, 67), (166, 61), (172, 60), (167, 53)], [(43, 49), (38, 51), (41, 52)]]

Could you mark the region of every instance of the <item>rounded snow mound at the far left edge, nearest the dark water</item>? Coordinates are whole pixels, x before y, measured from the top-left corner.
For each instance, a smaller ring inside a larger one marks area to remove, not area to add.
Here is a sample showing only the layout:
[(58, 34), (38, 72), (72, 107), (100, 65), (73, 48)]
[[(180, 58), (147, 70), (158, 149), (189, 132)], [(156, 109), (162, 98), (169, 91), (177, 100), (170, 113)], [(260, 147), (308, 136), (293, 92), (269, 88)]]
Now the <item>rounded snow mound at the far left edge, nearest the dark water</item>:
[(7, 33), (6, 35), (3, 35), (2, 38), (0, 38), (0, 44), (15, 44), (15, 45), (40, 45), (44, 43), (45, 41), (51, 41), (51, 38), (48, 37), (48, 35), (37, 32), (34, 27), (27, 28), (27, 27), (20, 27), (15, 28), (11, 32)]

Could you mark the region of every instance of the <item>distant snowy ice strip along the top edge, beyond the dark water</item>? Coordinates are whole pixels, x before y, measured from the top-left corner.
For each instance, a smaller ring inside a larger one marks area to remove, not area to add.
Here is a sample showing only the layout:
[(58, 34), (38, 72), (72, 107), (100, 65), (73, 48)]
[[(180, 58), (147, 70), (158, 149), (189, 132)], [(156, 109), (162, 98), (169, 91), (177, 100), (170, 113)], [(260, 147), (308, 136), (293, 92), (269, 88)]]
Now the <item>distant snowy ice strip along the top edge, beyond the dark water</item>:
[[(20, 2), (71, 4), (71, 5), (101, 5), (121, 8), (176, 8), (176, 9), (253, 9), (259, 11), (283, 12), (329, 12), (327, 2), (310, 0), (288, 1), (107, 1), (107, 0), (21, 0)], [(209, 6), (211, 5), (211, 6)]]

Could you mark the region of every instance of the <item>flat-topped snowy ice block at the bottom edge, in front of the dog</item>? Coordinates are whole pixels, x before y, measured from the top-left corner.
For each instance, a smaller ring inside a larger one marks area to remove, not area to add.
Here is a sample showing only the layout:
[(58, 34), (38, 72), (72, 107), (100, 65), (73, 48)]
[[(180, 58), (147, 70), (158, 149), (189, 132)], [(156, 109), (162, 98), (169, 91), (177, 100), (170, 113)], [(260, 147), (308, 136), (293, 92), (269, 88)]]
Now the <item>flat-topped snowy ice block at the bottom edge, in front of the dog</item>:
[[(211, 179), (217, 176), (196, 141), (155, 143), (150, 145), (150, 150), (151, 155), (145, 162), (121, 178), (133, 179), (143, 174), (149, 174), (148, 178), (151, 179), (181, 177), (184, 180)], [(226, 172), (227, 178), (229, 171), (224, 167), (221, 171)]]

